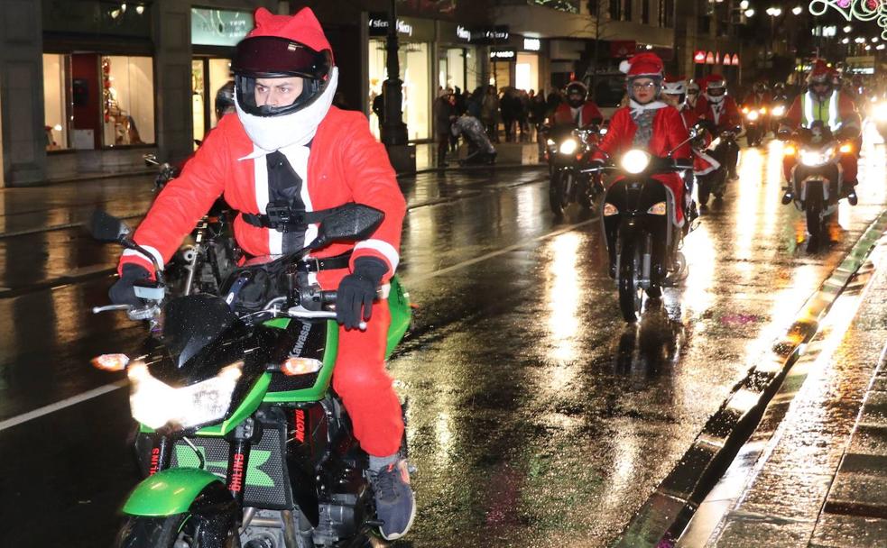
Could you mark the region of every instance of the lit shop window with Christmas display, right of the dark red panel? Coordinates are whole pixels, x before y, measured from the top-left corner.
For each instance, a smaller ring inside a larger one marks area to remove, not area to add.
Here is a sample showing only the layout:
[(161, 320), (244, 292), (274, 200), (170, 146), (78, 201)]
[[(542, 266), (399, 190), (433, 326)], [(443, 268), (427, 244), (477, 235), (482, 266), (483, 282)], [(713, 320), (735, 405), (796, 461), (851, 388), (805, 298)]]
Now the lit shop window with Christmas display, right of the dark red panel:
[(105, 146), (153, 143), (152, 59), (104, 56), (101, 68)]

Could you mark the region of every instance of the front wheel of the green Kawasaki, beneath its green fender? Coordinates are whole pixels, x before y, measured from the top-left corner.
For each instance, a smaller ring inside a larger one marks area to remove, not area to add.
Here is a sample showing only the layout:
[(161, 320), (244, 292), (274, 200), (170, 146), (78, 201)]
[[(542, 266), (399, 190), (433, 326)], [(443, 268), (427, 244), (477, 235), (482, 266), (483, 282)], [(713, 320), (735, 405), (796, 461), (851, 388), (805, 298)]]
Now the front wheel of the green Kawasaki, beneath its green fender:
[[(210, 543), (208, 543), (208, 541)], [(215, 541), (215, 542), (213, 542)], [(129, 516), (115, 548), (241, 548), (236, 522), (193, 514)]]

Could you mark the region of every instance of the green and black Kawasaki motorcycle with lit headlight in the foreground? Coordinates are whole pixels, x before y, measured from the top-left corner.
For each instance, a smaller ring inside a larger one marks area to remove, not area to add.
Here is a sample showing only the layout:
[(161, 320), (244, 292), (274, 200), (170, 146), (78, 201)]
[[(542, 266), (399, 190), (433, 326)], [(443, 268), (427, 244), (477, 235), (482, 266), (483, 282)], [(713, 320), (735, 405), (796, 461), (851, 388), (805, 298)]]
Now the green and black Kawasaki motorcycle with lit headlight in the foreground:
[[(93, 309), (126, 310), (150, 322), (152, 333), (138, 357), (93, 360), (126, 370), (139, 423), (135, 450), (145, 479), (125, 501), (115, 546), (363, 546), (382, 525), (368, 457), (330, 387), (336, 293), (309, 283), (316, 261), (304, 258), (329, 242), (367, 238), (384, 215), (356, 204), (328, 211), (310, 246), (236, 269), (220, 296), (166, 298), (155, 264), (157, 280), (134, 288), (145, 306)], [(92, 231), (140, 250), (110, 215), (97, 212)], [(261, 306), (254, 306), (257, 288), (271, 296)], [(387, 357), (411, 309), (396, 278), (383, 289), (392, 316)]]

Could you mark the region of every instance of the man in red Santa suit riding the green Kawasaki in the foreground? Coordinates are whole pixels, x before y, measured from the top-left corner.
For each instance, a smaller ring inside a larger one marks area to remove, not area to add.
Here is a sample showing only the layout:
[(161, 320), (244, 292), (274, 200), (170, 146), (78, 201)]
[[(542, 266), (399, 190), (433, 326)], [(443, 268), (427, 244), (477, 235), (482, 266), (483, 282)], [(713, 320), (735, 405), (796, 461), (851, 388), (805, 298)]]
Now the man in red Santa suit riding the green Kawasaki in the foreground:
[[(272, 228), (269, 206), (295, 214), (343, 205), (382, 210), (383, 224), (367, 240), (333, 243), (312, 252), (321, 288), (337, 289), (339, 352), (333, 388), (342, 398), (361, 447), (370, 455), (383, 536), (406, 534), (415, 516), (407, 462), (399, 455), (401, 404), (384, 369), (387, 301), (376, 289), (393, 276), (406, 204), (379, 142), (363, 114), (331, 106), (338, 68), (323, 30), (309, 8), (298, 14), (255, 12), (255, 28), (232, 61), (236, 116), (224, 116), (179, 178), (157, 196), (134, 234), (160, 264), (220, 195), (241, 213), (234, 229), (254, 256), (298, 251), (318, 233), (317, 224)], [(326, 268), (324, 268), (326, 267)], [(133, 284), (152, 276), (151, 261), (125, 251), (115, 303), (136, 304)], [(366, 330), (356, 329), (361, 319)]]

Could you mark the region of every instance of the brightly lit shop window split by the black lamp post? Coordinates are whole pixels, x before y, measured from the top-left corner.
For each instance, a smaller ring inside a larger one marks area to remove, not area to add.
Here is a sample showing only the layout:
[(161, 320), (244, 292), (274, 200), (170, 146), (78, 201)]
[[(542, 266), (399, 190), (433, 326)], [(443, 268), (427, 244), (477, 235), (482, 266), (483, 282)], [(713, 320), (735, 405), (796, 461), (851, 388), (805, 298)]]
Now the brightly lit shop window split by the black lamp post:
[[(407, 124), (410, 140), (429, 138), (430, 103), (430, 55), (427, 42), (402, 43), (398, 49), (403, 81), (403, 122)], [(382, 93), (382, 85), (388, 78), (385, 67), (385, 42), (370, 41), (370, 103)], [(371, 114), (370, 129), (378, 137), (379, 119)]]

